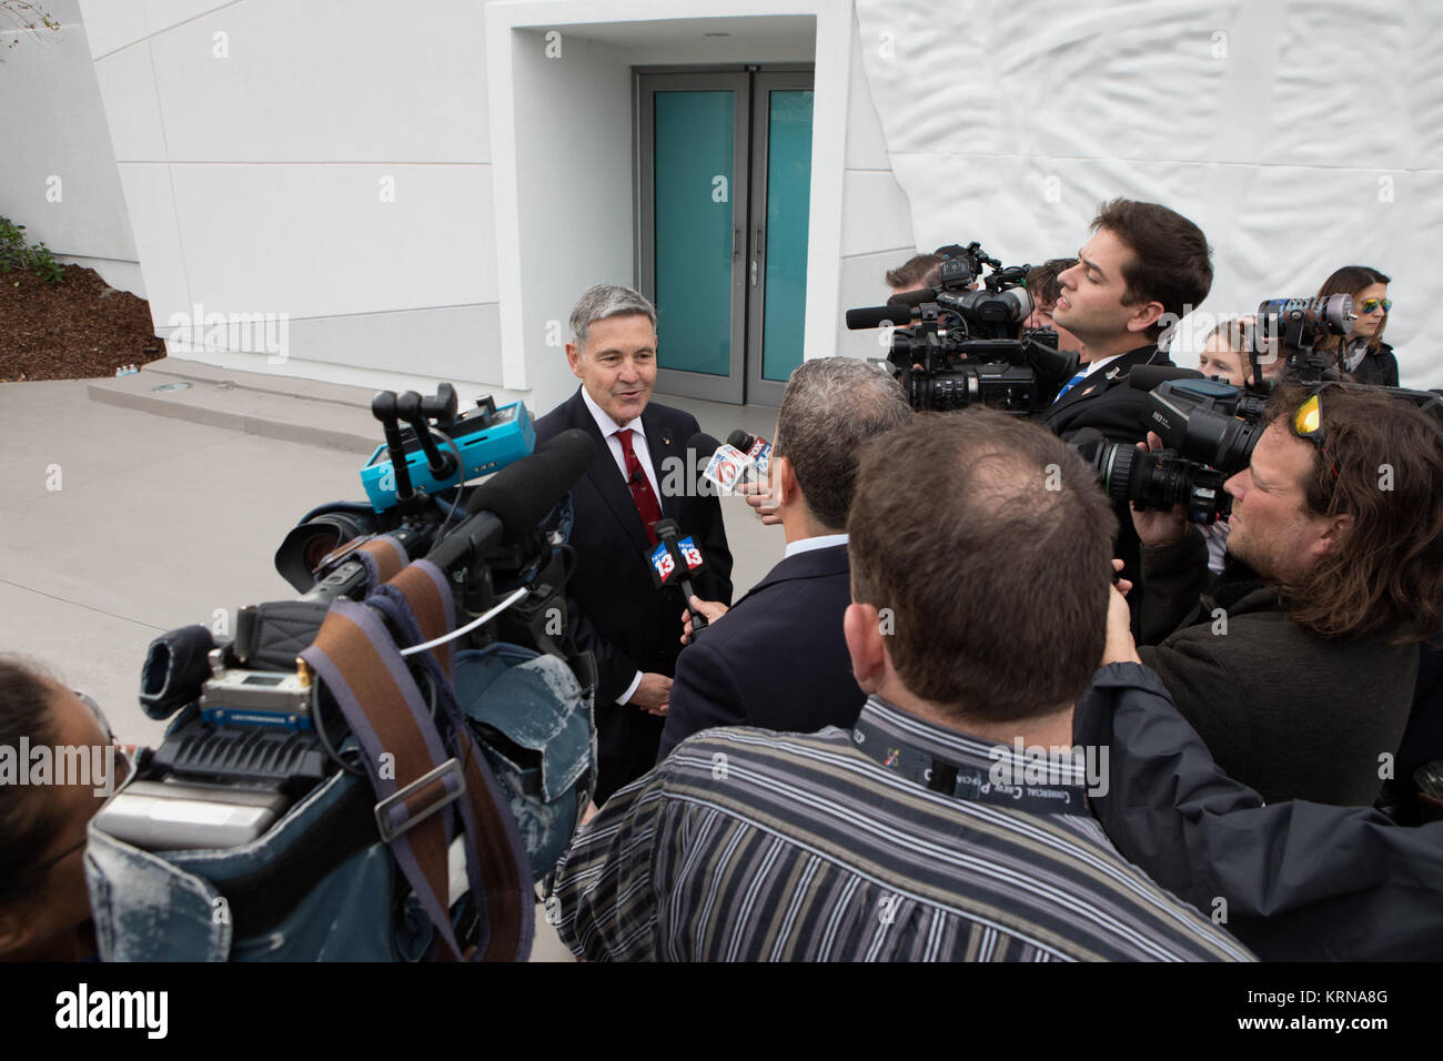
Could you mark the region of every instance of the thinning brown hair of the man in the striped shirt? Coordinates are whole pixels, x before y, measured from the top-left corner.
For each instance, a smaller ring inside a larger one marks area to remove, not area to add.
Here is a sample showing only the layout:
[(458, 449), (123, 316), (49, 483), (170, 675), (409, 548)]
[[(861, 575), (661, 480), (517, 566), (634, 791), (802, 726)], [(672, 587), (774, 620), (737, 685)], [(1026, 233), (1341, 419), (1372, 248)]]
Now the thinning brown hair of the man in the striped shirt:
[(867, 446), (847, 531), (853, 599), (890, 609), (892, 665), (924, 700), (1019, 722), (1101, 665), (1117, 517), (1043, 427), (919, 413)]

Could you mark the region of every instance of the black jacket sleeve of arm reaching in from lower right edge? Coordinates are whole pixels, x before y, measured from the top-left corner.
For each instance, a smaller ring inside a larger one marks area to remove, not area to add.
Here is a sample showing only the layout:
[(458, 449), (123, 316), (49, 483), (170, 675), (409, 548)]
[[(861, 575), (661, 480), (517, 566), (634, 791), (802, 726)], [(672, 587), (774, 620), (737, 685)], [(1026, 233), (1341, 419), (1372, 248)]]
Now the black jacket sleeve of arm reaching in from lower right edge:
[[(1114, 694), (1134, 684), (1144, 689)], [(1258, 957), (1443, 956), (1443, 823), (1403, 827), (1368, 807), (1296, 800), (1263, 805), (1218, 768), (1157, 676), (1133, 663), (1098, 670), (1074, 741), (1108, 749), (1107, 793), (1089, 801), (1117, 849), (1203, 914), (1225, 917)]]

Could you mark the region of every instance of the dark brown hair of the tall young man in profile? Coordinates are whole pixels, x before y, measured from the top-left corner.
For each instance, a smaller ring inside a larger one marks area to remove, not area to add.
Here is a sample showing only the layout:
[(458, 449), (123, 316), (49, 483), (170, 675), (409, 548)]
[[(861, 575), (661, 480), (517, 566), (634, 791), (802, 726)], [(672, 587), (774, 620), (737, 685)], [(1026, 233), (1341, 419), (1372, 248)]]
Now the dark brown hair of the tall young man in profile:
[(1098, 208), (1092, 231), (1105, 228), (1133, 251), (1123, 267), (1124, 306), (1163, 303), (1163, 319), (1147, 329), (1149, 339), (1196, 309), (1212, 290), (1208, 237), (1182, 214), (1156, 202), (1113, 199)]

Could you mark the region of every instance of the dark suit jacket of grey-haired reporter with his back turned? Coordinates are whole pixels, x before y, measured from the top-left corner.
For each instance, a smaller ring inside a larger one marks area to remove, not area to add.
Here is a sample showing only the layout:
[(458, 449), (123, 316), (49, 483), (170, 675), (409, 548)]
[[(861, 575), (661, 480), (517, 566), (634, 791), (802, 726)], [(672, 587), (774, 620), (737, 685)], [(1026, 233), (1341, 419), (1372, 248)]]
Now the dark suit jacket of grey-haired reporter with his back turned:
[(812, 733), (854, 723), (867, 697), (841, 634), (848, 603), (846, 546), (776, 564), (681, 652), (659, 758), (711, 726)]

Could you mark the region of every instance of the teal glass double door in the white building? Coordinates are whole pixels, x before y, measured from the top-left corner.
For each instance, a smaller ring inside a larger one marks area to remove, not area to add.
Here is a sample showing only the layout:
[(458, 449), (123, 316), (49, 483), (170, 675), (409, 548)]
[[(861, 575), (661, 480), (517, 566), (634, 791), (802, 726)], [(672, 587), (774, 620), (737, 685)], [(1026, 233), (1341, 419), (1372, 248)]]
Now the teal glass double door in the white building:
[(802, 361), (812, 75), (638, 75), (639, 286), (657, 390), (778, 406)]

